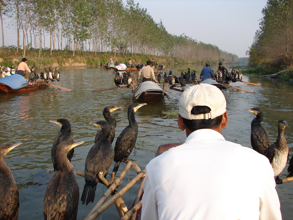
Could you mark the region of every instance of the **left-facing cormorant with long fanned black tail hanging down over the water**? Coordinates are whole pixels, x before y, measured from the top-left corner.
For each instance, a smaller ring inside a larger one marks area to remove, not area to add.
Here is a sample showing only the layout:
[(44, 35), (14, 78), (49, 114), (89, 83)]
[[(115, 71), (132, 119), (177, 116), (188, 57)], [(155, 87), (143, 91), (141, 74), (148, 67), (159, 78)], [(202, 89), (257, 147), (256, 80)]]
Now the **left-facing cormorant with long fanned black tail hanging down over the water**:
[(86, 205), (94, 201), (98, 182), (103, 183), (100, 180), (99, 172), (103, 172), (106, 178), (114, 158), (114, 148), (109, 142), (109, 124), (106, 121), (97, 121), (95, 126), (99, 128), (101, 135), (86, 157), (84, 168), (84, 180), (86, 183), (81, 195), (82, 204), (86, 203)]

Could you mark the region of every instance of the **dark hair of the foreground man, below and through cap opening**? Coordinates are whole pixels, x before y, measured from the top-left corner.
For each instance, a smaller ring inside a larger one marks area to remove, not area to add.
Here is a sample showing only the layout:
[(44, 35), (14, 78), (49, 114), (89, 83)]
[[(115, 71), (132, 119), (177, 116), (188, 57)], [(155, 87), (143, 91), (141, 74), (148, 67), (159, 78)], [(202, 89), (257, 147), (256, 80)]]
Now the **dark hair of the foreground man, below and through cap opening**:
[[(199, 115), (209, 113), (211, 109), (208, 106), (193, 106), (191, 109), (191, 114)], [(214, 119), (183, 119), (184, 125), (190, 131), (196, 131), (199, 129), (211, 129), (218, 128), (221, 125), (223, 115), (220, 115)]]

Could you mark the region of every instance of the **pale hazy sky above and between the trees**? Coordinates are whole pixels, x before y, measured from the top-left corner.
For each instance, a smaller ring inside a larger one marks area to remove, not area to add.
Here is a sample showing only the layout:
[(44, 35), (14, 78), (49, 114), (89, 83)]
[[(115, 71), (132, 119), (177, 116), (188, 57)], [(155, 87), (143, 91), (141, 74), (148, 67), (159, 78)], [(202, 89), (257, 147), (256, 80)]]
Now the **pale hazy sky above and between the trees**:
[[(122, 0), (126, 4), (126, 0)], [(197, 41), (246, 57), (259, 29), (266, 0), (134, 0), (153, 17), (162, 19), (168, 33), (185, 34)], [(16, 45), (15, 30), (4, 20), (5, 45)], [(11, 23), (11, 21), (10, 21)], [(0, 28), (1, 32), (1, 28)], [(8, 34), (7, 34), (8, 33)], [(20, 38), (22, 44), (22, 36)], [(49, 44), (49, 39), (47, 38)], [(1, 40), (2, 41), (2, 40)], [(2, 44), (2, 42), (1, 42)], [(47, 45), (49, 47), (49, 45)]]

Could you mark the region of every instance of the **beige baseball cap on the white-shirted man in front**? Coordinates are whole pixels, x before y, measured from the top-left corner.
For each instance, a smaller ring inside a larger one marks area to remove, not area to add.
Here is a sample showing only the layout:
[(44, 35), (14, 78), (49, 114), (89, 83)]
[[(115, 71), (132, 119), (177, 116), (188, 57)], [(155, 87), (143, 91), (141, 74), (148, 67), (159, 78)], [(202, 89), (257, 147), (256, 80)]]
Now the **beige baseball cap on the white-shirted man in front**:
[[(193, 106), (208, 106), (210, 113), (191, 114)], [(214, 119), (226, 112), (226, 99), (216, 86), (201, 83), (186, 89), (179, 99), (179, 114), (185, 119)]]

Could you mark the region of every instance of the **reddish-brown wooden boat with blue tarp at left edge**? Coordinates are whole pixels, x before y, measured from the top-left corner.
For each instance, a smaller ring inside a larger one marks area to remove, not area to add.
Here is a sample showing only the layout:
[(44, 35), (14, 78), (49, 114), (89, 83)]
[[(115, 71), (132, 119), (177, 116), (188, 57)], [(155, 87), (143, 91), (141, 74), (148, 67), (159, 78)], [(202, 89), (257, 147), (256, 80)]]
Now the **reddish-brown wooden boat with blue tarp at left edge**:
[(42, 90), (47, 87), (42, 82), (34, 82), (32, 85), (27, 85), (27, 80), (19, 75), (14, 74), (0, 79), (0, 92), (12, 93), (12, 92), (29, 92), (34, 90)]

